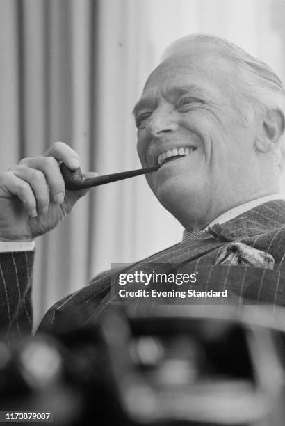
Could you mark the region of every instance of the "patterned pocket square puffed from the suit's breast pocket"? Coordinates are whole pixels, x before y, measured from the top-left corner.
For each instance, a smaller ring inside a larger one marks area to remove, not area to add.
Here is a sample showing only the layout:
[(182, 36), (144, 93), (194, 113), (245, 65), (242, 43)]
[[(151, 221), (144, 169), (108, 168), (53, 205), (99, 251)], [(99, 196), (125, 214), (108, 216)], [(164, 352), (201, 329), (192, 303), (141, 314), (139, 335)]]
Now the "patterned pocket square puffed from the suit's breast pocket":
[(273, 269), (275, 259), (269, 253), (233, 242), (220, 248), (216, 265), (252, 265), (264, 269)]

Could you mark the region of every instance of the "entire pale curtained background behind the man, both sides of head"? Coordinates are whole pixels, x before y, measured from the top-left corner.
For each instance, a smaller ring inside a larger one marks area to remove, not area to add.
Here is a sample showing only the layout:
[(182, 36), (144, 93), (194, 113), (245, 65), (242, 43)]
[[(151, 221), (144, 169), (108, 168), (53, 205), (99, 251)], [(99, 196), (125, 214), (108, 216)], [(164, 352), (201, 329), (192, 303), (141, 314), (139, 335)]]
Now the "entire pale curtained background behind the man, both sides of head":
[[(0, 170), (64, 141), (83, 168), (138, 168), (131, 111), (174, 39), (214, 33), (283, 79), (283, 0), (0, 0)], [(92, 189), (36, 240), (35, 322), (111, 262), (133, 262), (181, 238), (143, 177)]]

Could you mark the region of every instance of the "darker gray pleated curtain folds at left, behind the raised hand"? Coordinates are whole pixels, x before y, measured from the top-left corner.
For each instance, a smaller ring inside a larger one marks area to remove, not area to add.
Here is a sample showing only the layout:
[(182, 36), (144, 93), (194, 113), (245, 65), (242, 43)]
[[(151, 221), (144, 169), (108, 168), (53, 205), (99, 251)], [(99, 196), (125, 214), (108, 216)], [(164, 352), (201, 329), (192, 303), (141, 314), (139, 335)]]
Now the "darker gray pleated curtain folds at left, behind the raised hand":
[[(92, 166), (97, 3), (2, 0), (1, 170), (54, 141)], [(51, 303), (88, 282), (90, 198), (36, 240), (35, 322)]]

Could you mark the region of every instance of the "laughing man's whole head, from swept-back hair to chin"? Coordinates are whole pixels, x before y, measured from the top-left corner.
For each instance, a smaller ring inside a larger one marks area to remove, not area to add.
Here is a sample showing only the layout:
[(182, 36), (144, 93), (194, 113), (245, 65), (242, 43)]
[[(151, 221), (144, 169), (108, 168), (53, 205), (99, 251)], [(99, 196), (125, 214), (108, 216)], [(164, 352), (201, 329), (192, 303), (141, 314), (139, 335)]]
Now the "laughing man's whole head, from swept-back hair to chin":
[[(252, 99), (243, 74), (258, 69), (243, 70), (233, 53), (208, 37), (181, 40), (151, 74), (134, 109), (140, 161), (161, 164), (147, 175), (149, 186), (187, 230), (278, 193), (273, 157), (281, 161), (284, 95), (278, 104), (276, 93), (269, 109)], [(273, 97), (278, 86), (282, 93), (276, 77), (264, 80), (272, 88), (260, 85), (261, 95), (270, 88)]]

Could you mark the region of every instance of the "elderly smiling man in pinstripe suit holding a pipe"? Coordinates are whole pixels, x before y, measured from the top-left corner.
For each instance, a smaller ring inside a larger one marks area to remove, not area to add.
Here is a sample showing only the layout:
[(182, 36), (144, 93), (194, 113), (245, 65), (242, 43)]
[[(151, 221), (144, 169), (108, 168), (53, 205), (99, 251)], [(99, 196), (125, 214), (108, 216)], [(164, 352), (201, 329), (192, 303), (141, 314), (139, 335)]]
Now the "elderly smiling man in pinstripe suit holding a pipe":
[[(128, 272), (183, 266), (199, 277), (199, 290), (284, 305), (285, 201), (278, 195), (284, 111), (274, 72), (226, 40), (187, 36), (166, 50), (133, 113), (142, 166), (161, 165), (147, 175), (149, 186), (184, 226), (184, 238)], [(76, 152), (56, 143), (1, 174), (5, 333), (31, 327), (31, 240), (54, 228), (86, 192), (65, 191), (58, 161), (79, 166)], [(22, 242), (17, 252), (15, 240)], [(90, 321), (110, 303), (113, 283), (112, 273), (95, 278), (56, 303), (42, 326), (53, 329), (75, 316)]]

